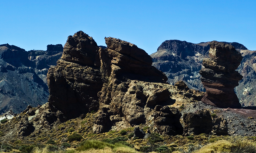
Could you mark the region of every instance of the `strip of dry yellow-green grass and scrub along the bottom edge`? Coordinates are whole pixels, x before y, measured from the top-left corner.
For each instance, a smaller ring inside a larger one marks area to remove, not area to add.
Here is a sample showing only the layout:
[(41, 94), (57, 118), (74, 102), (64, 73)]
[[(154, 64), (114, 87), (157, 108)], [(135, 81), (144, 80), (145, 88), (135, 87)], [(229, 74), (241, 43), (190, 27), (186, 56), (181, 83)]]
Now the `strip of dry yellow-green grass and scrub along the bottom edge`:
[[(184, 137), (184, 139), (192, 139)], [(126, 141), (114, 142), (113, 139), (86, 140), (79, 146), (69, 148), (47, 144), (45, 146), (20, 146), (11, 147), (1, 144), (1, 152), (19, 152), (19, 153), (255, 153), (255, 137), (241, 136), (218, 136), (210, 138), (208, 144), (202, 145), (200, 141), (189, 140), (188, 144), (179, 146), (179, 140), (169, 145), (159, 145), (154, 142), (147, 142), (144, 146), (133, 146)], [(5, 148), (5, 150), (4, 150)]]

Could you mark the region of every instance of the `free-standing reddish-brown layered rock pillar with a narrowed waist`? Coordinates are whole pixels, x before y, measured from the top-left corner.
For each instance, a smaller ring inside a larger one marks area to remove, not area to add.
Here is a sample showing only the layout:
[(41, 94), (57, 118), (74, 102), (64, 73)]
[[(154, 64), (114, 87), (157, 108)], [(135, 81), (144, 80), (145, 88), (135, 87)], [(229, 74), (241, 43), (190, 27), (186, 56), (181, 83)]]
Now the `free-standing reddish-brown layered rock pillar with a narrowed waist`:
[(203, 60), (205, 68), (200, 70), (206, 90), (202, 101), (221, 108), (240, 108), (234, 88), (243, 76), (235, 69), (243, 57), (232, 45), (212, 41), (210, 47), (210, 58)]

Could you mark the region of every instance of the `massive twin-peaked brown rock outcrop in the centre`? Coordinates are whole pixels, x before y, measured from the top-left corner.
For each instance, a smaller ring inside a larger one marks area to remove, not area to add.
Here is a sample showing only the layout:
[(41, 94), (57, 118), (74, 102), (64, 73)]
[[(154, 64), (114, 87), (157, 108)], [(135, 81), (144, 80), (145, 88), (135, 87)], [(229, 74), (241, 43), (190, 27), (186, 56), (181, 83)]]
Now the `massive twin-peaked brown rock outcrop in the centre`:
[[(103, 49), (82, 31), (68, 37), (61, 59), (47, 74), (49, 102), (68, 119), (98, 111), (94, 133), (155, 120), (161, 133), (182, 134), (179, 110), (165, 107), (175, 102), (171, 97), (177, 87), (166, 83), (144, 50), (116, 38), (105, 40)], [(155, 110), (156, 105), (163, 108)]]

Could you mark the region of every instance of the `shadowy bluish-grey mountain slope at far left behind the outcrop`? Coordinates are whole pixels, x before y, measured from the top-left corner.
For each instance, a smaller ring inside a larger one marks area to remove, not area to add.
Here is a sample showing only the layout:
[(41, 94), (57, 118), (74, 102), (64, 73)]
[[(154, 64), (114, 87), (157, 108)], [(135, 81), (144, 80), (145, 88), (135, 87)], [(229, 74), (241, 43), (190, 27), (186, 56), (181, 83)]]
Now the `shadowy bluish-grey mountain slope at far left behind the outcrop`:
[(25, 51), (14, 45), (0, 45), (0, 114), (24, 111), (47, 102), (48, 69), (62, 55), (62, 45), (47, 45), (47, 50)]

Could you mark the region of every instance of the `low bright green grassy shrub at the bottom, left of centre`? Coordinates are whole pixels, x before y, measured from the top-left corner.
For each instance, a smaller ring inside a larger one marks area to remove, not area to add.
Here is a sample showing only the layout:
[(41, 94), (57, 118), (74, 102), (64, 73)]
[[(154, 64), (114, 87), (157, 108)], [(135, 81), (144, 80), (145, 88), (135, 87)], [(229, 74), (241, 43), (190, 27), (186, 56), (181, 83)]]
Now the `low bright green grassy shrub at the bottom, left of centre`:
[(77, 151), (84, 151), (88, 149), (103, 149), (105, 147), (114, 148), (115, 146), (110, 143), (101, 142), (98, 140), (86, 140), (84, 141), (81, 146), (77, 147)]

